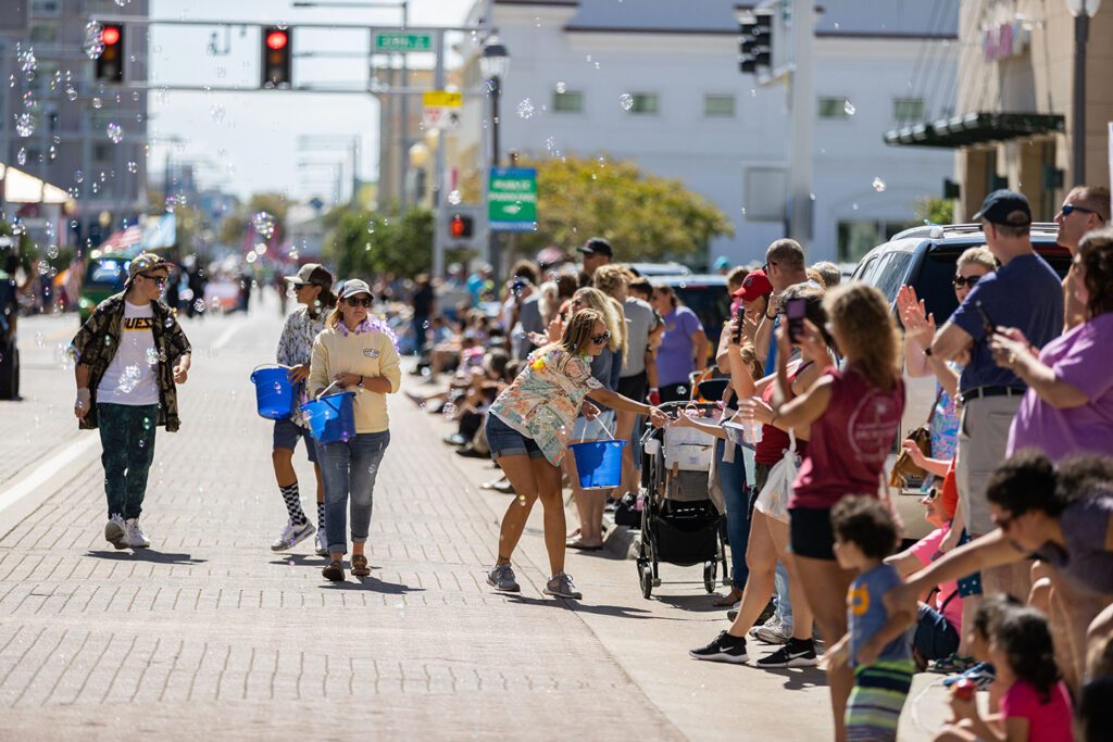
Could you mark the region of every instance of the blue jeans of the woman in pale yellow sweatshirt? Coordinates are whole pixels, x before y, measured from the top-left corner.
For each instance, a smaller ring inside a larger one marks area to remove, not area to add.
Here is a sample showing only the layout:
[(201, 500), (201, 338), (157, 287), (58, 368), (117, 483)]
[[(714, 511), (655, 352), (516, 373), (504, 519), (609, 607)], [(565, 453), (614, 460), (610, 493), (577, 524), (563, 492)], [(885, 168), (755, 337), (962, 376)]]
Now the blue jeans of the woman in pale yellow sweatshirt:
[(358, 433), (345, 443), (317, 447), (321, 476), (325, 481), (325, 537), (331, 554), (347, 553), (348, 499), (352, 501), (352, 543), (367, 541), (371, 530), (372, 495), (375, 476), (391, 443), (390, 431)]

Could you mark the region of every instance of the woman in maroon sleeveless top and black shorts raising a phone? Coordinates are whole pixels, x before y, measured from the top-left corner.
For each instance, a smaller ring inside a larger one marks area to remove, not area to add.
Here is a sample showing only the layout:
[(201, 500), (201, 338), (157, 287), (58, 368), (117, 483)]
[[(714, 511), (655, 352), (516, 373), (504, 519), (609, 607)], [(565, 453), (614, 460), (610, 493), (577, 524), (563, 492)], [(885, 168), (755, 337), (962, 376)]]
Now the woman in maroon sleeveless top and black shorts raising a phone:
[[(897, 363), (899, 340), (889, 303), (865, 284), (839, 286), (824, 297), (830, 335), (843, 354), (807, 392), (792, 398), (787, 360), (788, 327), (777, 335), (777, 379), (781, 399), (768, 423), (810, 425), (808, 455), (789, 499), (789, 541), (804, 594), (828, 642), (846, 633), (846, 591), (854, 573), (835, 562), (830, 508), (847, 495), (877, 497), (881, 469), (893, 447), (905, 394)], [(798, 338), (819, 357), (823, 334), (807, 319)], [(913, 614), (915, 615), (915, 614)], [(854, 676), (846, 666), (828, 669), (835, 739), (846, 739), (843, 718)]]

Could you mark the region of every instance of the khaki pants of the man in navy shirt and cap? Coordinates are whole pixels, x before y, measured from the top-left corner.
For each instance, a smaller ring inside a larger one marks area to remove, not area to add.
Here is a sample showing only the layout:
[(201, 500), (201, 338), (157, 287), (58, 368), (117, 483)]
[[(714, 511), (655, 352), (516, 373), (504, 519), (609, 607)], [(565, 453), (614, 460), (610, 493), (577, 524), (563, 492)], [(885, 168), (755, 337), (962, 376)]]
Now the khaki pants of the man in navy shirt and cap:
[(985, 486), (994, 469), (1005, 461), (1008, 428), (1020, 406), (1020, 395), (979, 397), (963, 406), (955, 478), (966, 513), (966, 531), (972, 536), (983, 536), (996, 528), (989, 517)]

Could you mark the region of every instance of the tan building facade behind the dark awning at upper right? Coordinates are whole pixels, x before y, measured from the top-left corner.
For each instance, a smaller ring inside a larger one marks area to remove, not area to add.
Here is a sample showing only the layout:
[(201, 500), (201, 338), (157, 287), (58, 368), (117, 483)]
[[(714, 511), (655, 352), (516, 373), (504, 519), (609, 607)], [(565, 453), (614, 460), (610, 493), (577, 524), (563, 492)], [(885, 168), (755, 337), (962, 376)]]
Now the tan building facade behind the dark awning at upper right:
[[(1084, 179), (1106, 185), (1107, 122), (1113, 121), (1111, 4), (1105, 3), (1090, 21), (1085, 88)], [(985, 195), (1002, 186), (1025, 194), (1037, 220), (1051, 220), (1066, 191), (1080, 180), (1071, 166), (1074, 32), (1074, 17), (1065, 0), (962, 3), (956, 110), (1031, 116), (998, 120), (999, 140), (957, 149), (956, 221), (968, 219)]]

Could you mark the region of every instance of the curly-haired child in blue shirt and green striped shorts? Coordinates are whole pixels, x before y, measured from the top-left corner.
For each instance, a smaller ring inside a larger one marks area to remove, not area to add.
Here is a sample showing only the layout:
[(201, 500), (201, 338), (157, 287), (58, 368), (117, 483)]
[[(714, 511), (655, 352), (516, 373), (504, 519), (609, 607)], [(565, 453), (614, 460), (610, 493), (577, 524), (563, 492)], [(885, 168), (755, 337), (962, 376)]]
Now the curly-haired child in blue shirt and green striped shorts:
[(844, 497), (831, 508), (838, 565), (857, 573), (846, 596), (849, 631), (828, 650), (828, 669), (853, 667), (846, 708), (851, 740), (896, 740), (915, 665), (908, 616), (885, 607), (885, 593), (900, 575), (885, 557), (897, 543), (889, 511), (876, 498)]

